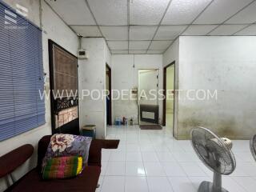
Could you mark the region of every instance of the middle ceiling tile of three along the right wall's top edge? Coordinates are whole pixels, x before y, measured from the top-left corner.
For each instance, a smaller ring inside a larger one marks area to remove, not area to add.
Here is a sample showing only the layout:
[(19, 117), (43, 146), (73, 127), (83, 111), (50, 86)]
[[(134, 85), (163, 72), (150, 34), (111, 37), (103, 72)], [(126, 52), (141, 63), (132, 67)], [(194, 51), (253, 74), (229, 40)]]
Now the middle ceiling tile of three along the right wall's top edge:
[(246, 25), (222, 25), (212, 31), (210, 35), (232, 35)]

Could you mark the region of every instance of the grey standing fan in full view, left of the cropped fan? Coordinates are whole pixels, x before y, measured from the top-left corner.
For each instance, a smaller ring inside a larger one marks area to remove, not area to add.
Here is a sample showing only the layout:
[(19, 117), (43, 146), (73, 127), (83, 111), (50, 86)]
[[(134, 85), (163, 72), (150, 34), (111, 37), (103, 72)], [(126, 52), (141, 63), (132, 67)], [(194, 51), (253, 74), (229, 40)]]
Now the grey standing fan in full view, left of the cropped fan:
[(202, 182), (198, 192), (228, 192), (222, 188), (222, 174), (232, 174), (236, 166), (232, 142), (204, 127), (191, 130), (191, 142), (198, 158), (214, 172), (214, 182)]

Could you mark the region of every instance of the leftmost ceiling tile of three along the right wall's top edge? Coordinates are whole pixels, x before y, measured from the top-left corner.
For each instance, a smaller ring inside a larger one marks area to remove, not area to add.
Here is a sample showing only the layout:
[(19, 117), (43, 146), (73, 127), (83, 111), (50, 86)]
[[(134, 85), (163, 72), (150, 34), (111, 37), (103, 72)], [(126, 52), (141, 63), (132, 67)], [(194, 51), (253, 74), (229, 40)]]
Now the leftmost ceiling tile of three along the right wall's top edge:
[(192, 25), (182, 35), (206, 35), (218, 25)]

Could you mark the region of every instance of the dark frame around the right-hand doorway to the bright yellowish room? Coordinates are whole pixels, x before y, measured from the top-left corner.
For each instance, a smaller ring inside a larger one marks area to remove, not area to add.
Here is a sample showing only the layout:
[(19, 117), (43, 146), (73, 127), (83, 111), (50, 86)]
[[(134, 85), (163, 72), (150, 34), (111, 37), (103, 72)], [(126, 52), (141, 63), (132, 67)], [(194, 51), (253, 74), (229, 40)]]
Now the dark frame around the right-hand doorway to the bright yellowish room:
[[(162, 126), (166, 126), (166, 81), (167, 81), (167, 76), (166, 76), (166, 71), (167, 68), (170, 66), (174, 65), (174, 119), (175, 119), (175, 79), (176, 79), (176, 71), (175, 71), (175, 61), (171, 62), (169, 65), (165, 66), (163, 68), (163, 95), (164, 99), (162, 101)], [(173, 120), (173, 130), (174, 130), (174, 120)]]

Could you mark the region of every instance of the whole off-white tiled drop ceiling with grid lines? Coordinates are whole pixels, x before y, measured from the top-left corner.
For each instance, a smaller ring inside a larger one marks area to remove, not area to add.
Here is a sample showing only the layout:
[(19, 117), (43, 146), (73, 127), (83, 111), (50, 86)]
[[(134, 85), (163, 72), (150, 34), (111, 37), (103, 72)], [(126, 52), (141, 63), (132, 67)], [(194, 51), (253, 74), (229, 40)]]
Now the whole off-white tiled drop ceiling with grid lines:
[(256, 35), (256, 0), (45, 0), (112, 54), (162, 54), (180, 35)]

